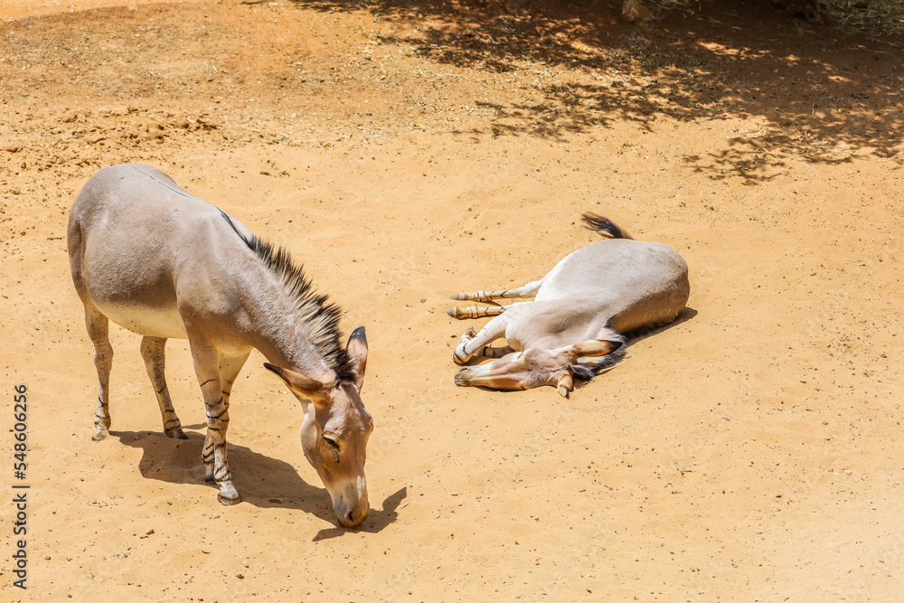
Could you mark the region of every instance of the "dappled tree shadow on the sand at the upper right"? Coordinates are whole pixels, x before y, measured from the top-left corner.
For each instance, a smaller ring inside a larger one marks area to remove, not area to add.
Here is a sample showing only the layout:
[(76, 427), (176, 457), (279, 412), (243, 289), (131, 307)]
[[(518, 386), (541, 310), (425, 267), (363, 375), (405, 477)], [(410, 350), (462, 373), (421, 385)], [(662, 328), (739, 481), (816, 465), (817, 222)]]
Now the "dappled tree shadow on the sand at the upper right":
[(901, 162), (904, 41), (804, 29), (765, 0), (702, 3), (700, 13), (673, 10), (650, 27), (621, 21), (621, 3), (292, 0), (321, 11), (367, 9), (397, 25), (378, 34), (381, 44), (413, 47), (437, 67), (535, 76), (523, 94), (529, 101), (477, 103), (492, 111), (494, 136), (605, 135), (615, 119), (654, 131), (678, 127), (667, 120), (742, 118), (744, 127), (726, 124), (725, 146), (688, 153), (683, 163), (756, 184), (796, 158), (840, 164), (871, 153)]

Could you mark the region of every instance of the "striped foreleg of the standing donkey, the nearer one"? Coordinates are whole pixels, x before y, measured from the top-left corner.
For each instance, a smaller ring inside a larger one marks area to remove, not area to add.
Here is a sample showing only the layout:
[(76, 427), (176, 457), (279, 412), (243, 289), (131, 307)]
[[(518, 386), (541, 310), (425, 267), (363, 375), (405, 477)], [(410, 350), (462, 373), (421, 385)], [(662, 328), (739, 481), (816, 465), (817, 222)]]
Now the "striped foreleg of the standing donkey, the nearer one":
[[(191, 336), (191, 335), (190, 335)], [(226, 432), (229, 429), (229, 407), (223, 395), (220, 377), (220, 356), (212, 346), (189, 340), (192, 345), (194, 372), (201, 384), (204, 411), (207, 415), (207, 437), (204, 438), (201, 458), (204, 481), (220, 485), (217, 500), (222, 504), (241, 502), (239, 491), (232, 484), (232, 474), (226, 458)]]

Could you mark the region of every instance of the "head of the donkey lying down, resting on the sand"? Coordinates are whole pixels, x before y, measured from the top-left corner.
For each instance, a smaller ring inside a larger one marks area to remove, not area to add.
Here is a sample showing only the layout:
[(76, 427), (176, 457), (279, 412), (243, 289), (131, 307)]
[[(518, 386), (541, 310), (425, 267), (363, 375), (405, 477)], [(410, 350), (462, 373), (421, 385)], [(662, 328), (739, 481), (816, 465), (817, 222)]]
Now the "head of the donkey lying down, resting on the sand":
[(574, 389), (572, 366), (579, 358), (602, 356), (621, 347), (619, 341), (591, 339), (581, 344), (545, 350), (528, 348), (504, 355), (491, 363), (468, 366), (455, 376), (456, 385), (474, 385), (494, 390), (529, 390), (551, 385), (568, 398)]

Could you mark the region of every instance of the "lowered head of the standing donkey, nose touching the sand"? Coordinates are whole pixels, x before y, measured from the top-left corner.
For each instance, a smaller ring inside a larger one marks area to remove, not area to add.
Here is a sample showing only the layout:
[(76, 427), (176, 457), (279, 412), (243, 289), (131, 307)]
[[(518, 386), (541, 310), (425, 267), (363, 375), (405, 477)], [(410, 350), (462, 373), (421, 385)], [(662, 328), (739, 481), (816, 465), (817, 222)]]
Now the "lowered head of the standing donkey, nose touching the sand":
[[(361, 401), (367, 340), (359, 328), (345, 346), (353, 378), (337, 381), (334, 373), (310, 377), (265, 364), (276, 372), (306, 407), (301, 425), (301, 446), (333, 499), (339, 523), (353, 527), (367, 519), (364, 457), (373, 430), (371, 415)], [(310, 402), (310, 403), (308, 403)]]

